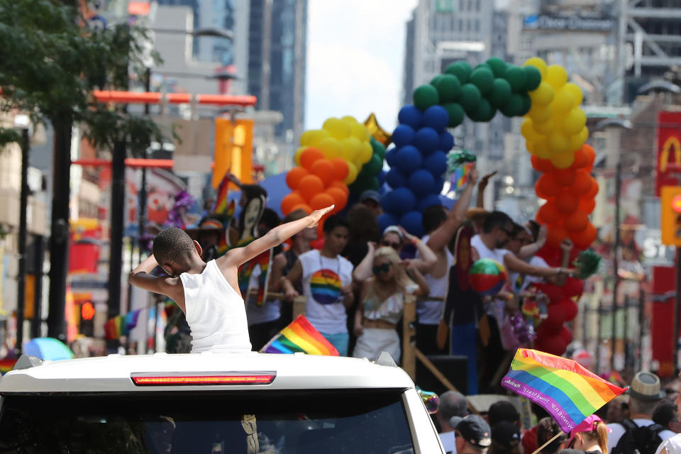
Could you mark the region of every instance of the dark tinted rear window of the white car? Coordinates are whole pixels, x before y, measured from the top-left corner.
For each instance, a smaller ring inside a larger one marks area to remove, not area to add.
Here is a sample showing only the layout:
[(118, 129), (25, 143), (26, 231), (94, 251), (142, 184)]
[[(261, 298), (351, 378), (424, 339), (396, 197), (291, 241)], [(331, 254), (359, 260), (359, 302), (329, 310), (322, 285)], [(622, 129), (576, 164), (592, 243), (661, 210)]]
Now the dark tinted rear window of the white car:
[(7, 395), (0, 453), (413, 453), (401, 390)]

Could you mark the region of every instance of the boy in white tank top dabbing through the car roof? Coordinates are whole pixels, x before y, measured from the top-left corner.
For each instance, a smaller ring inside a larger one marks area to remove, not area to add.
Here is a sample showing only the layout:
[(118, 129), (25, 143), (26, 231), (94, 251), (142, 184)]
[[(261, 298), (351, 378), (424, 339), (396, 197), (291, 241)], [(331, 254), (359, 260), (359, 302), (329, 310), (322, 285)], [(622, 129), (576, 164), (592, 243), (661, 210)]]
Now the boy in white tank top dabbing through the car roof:
[[(272, 228), (244, 248), (228, 250), (208, 263), (201, 260), (199, 243), (179, 228), (167, 228), (154, 238), (153, 254), (130, 273), (129, 280), (135, 287), (166, 295), (184, 311), (192, 328), (192, 353), (250, 351), (245, 306), (238, 292), (238, 267), (304, 228), (315, 227), (332, 209), (329, 206)], [(151, 275), (157, 266), (167, 276)]]

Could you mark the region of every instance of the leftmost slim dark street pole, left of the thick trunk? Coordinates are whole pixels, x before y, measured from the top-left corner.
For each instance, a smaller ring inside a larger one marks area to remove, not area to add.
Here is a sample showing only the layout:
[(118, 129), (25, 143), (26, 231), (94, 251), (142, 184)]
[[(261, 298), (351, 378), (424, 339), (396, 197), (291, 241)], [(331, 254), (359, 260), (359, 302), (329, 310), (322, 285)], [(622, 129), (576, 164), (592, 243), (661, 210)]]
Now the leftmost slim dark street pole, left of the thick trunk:
[(19, 199), (18, 277), (16, 292), (16, 353), (23, 349), (23, 318), (26, 305), (26, 209), (28, 206), (28, 128), (21, 130), (21, 193)]

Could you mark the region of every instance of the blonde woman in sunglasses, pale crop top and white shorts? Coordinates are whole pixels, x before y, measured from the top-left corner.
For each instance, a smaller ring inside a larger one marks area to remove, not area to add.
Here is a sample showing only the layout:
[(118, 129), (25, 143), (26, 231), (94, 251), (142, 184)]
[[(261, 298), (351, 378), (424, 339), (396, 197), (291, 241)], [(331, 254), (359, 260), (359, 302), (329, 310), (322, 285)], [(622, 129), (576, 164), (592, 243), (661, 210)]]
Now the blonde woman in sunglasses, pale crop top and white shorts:
[(402, 318), (407, 294), (427, 295), (426, 279), (411, 260), (400, 260), (393, 248), (376, 250), (373, 277), (362, 286), (360, 304), (355, 312), (355, 336), (358, 336), (353, 356), (377, 360), (382, 351), (399, 362), (400, 348), (397, 322)]

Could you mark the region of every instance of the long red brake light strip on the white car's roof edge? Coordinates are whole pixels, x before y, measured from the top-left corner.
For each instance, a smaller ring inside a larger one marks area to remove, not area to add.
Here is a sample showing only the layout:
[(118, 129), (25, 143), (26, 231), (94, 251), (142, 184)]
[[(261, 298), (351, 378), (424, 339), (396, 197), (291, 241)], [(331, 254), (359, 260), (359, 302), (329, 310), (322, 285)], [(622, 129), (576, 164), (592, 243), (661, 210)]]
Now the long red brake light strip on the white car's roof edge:
[(130, 375), (137, 386), (182, 386), (200, 384), (270, 384), (275, 372), (199, 372), (196, 374), (133, 373)]

